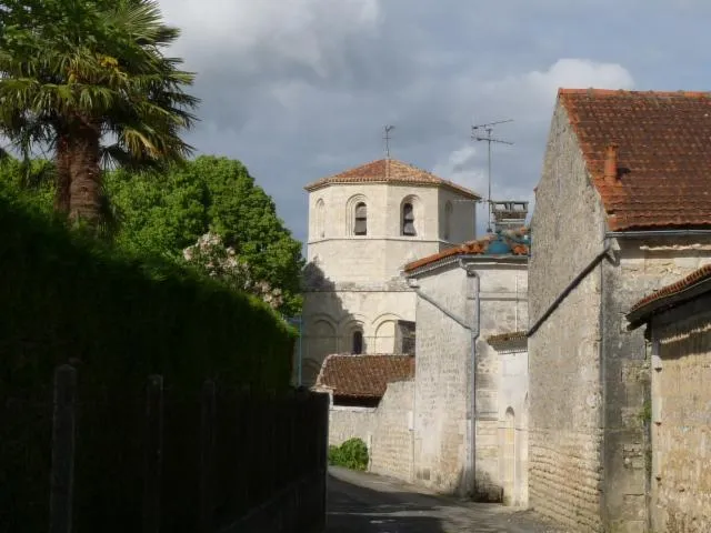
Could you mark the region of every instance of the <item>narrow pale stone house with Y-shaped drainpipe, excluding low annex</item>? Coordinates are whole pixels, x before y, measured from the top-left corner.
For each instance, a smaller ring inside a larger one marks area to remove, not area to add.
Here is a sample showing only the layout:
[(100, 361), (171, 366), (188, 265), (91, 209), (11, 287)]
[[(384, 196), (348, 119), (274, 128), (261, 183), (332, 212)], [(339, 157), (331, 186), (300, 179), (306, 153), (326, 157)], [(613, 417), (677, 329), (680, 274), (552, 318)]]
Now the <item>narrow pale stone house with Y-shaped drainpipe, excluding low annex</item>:
[[(503, 208), (499, 222), (509, 211)], [(525, 214), (519, 212), (519, 228)], [(504, 450), (510, 435), (500, 429), (515, 426), (523, 408), (521, 402), (504, 405), (509, 398), (501, 390), (519, 378), (525, 383), (528, 369), (508, 365), (523, 375), (503, 376), (501, 354), (485, 339), (528, 323), (528, 233), (497, 230), (404, 269), (417, 294), (413, 481), (478, 500), (522, 503), (521, 463), (518, 480), (515, 473), (509, 480), (511, 494), (503, 494), (501, 474), (510, 472), (504, 452), (512, 452), (514, 462), (515, 453), (524, 452)]]

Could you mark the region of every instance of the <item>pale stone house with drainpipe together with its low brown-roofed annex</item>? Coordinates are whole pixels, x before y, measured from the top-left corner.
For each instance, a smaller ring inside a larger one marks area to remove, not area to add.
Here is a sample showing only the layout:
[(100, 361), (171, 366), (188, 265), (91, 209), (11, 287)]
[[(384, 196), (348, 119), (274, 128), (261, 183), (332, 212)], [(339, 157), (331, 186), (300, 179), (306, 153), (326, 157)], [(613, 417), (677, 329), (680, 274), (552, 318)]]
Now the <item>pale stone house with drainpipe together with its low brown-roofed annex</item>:
[(414, 356), (329, 355), (316, 389), (333, 398), (330, 443), (361, 438), (372, 472), (525, 505), (528, 207), (494, 208), (495, 234), (404, 266)]

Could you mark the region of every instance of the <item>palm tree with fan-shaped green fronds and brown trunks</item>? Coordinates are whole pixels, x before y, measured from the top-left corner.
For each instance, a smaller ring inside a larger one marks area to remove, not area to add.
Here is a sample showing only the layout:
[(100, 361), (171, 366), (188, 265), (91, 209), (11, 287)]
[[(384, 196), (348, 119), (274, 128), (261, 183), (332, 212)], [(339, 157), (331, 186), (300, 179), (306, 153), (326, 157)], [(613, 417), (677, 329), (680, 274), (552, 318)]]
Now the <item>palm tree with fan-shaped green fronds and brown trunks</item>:
[(102, 162), (190, 153), (180, 132), (194, 121), (198, 99), (183, 92), (194, 77), (163, 56), (180, 32), (157, 1), (10, 0), (0, 17), (0, 131), (26, 153), (53, 150), (58, 211), (96, 227)]

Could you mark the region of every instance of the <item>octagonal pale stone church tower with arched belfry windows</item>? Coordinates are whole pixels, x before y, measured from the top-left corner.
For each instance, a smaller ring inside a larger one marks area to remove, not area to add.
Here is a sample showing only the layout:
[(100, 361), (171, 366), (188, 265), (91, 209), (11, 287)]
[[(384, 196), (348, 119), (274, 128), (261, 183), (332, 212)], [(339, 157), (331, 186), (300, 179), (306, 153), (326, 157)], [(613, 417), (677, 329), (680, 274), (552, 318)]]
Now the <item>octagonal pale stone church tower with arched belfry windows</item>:
[(321, 179), (309, 192), (303, 378), (326, 355), (393, 353), (411, 339), (415, 296), (402, 266), (472, 239), (474, 192), (383, 159)]

